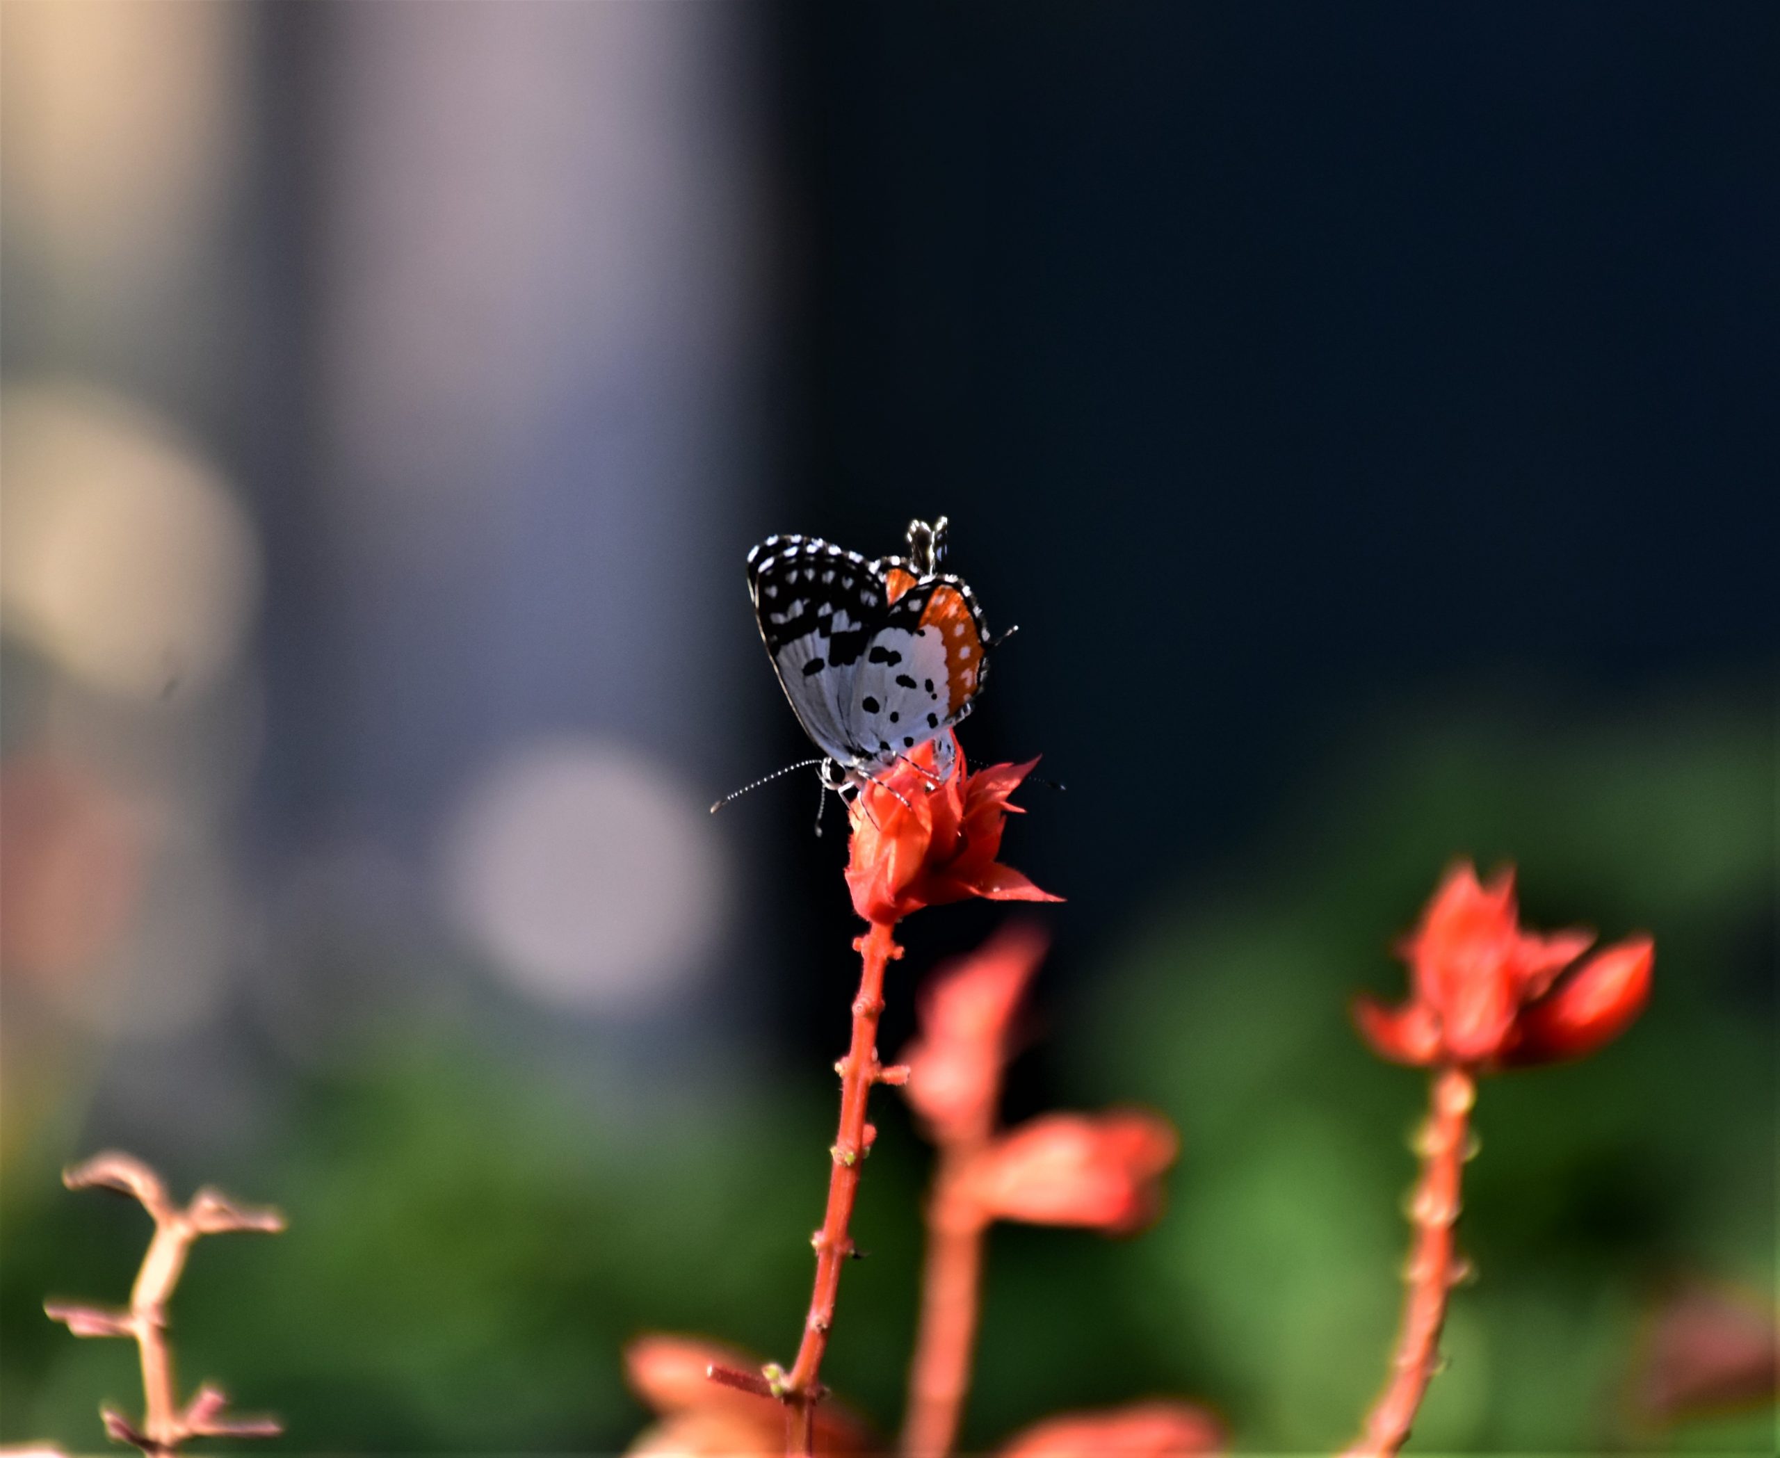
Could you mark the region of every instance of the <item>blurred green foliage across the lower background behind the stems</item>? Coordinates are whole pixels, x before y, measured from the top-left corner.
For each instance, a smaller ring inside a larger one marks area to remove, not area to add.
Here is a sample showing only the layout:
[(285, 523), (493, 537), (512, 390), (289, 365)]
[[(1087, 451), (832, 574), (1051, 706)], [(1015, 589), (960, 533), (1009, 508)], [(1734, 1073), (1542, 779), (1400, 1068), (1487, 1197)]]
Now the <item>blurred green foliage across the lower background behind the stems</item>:
[[(1451, 1369), (1413, 1449), (1771, 1451), (1773, 1415), (1648, 1433), (1627, 1412), (1641, 1314), (1677, 1273), (1775, 1271), (1773, 742), (1757, 716), (1632, 726), (1454, 714), (1378, 735), (1216, 883), (1196, 881), (1045, 1009), (1061, 1102), (1148, 1102), (1182, 1129), (1148, 1234), (991, 1235), (967, 1444), (1064, 1406), (1210, 1399), (1248, 1451), (1328, 1451), (1383, 1378), (1406, 1244), (1419, 1073), (1344, 1004), (1394, 995), (1390, 938), (1454, 855), (1513, 860), (1533, 926), (1650, 929), (1657, 993), (1618, 1045), (1485, 1084)], [(789, 1357), (833, 1125), (821, 1070), (605, 1122), (548, 1073), (418, 1029), (310, 1075), (249, 1168), (288, 1234), (199, 1243), (187, 1383), (224, 1380), (290, 1435), (265, 1451), (603, 1451), (643, 1424), (618, 1353), (641, 1330)], [(895, 1100), (862, 1196), (833, 1385), (894, 1430), (913, 1330), (926, 1152)], [(169, 1170), (180, 1193), (182, 1175)], [(132, 1351), (73, 1341), (44, 1294), (121, 1300), (148, 1221), (7, 1171), (0, 1430), (98, 1447), (137, 1406)]]

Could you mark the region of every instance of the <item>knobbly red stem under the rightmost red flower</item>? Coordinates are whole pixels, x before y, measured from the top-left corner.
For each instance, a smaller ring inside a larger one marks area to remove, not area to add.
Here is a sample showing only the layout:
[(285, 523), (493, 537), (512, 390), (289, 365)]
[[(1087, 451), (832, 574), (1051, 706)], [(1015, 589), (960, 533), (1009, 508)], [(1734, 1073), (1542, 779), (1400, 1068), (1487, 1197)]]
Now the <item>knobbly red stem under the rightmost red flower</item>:
[(1460, 1212), (1460, 1179), (1470, 1138), (1477, 1084), (1463, 1068), (1440, 1068), (1429, 1084), (1428, 1123), (1419, 1138), (1422, 1175), (1410, 1196), (1413, 1241), (1404, 1268), (1408, 1294), (1390, 1358), (1390, 1380), (1365, 1419), (1363, 1435), (1342, 1458), (1387, 1458), (1410, 1437), (1415, 1412), (1440, 1365), (1440, 1326), (1447, 1292), (1463, 1276), (1452, 1230)]

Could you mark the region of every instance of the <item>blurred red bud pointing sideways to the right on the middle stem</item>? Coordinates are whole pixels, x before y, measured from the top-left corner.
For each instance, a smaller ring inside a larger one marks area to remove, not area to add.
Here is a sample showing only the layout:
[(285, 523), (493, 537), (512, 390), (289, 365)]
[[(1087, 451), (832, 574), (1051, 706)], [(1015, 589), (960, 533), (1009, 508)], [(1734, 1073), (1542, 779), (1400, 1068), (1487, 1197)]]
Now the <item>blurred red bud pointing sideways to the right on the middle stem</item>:
[(1161, 1175), (1178, 1150), (1157, 1114), (1041, 1114), (983, 1150), (965, 1189), (991, 1219), (1125, 1235), (1161, 1212)]

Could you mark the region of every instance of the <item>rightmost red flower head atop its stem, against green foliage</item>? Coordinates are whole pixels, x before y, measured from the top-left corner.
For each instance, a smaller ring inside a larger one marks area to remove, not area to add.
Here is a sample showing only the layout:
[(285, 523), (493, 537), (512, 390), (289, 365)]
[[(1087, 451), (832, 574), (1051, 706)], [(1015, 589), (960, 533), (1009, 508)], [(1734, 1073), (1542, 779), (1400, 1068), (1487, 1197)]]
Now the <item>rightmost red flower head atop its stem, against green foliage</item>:
[[(1655, 949), (1632, 936), (1577, 965), (1591, 931), (1520, 929), (1515, 872), (1447, 872), (1406, 940), (1410, 1000), (1355, 1002), (1355, 1022), (1394, 1063), (1490, 1068), (1581, 1057), (1630, 1025), (1650, 997)], [(1568, 974), (1566, 974), (1568, 968)]]

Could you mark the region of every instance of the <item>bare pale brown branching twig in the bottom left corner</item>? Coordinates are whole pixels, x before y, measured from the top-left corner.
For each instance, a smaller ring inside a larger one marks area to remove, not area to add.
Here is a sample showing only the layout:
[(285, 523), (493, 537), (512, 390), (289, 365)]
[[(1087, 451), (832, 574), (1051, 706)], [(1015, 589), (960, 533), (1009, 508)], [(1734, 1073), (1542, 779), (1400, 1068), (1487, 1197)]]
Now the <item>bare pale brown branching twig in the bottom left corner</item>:
[(263, 1230), (276, 1234), (285, 1228), (285, 1218), (274, 1209), (237, 1205), (226, 1195), (205, 1186), (189, 1205), (174, 1205), (160, 1175), (141, 1159), (107, 1152), (84, 1164), (62, 1171), (69, 1189), (114, 1189), (142, 1203), (155, 1221), (155, 1239), (142, 1257), (135, 1285), (130, 1287), (130, 1305), (125, 1310), (107, 1310), (77, 1301), (44, 1301), (43, 1310), (52, 1321), (66, 1323), (77, 1337), (130, 1337), (142, 1358), (142, 1426), (112, 1406), (101, 1406), (105, 1431), (116, 1442), (132, 1444), (142, 1453), (176, 1453), (187, 1438), (271, 1438), (283, 1431), (272, 1417), (230, 1417), (228, 1397), (219, 1387), (205, 1383), (192, 1399), (180, 1406), (178, 1383), (173, 1374), (173, 1349), (167, 1344), (167, 1300), (185, 1269), (185, 1257), (199, 1235), (219, 1235), (224, 1230)]

